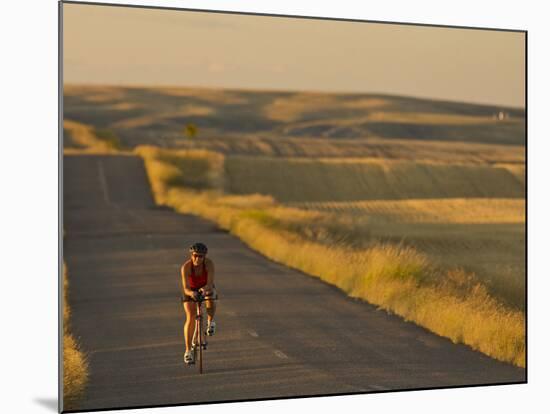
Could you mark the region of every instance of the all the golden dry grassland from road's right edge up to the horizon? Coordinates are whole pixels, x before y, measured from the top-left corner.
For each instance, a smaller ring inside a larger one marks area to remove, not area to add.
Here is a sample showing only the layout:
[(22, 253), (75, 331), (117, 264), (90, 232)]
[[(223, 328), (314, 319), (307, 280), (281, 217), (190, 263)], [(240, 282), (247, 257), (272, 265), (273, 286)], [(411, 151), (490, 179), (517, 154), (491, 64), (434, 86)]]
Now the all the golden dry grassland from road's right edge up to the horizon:
[[(386, 95), (85, 86), (67, 86), (65, 105), (66, 152), (97, 147), (78, 139), (84, 131), (101, 142), (95, 132), (109, 131), (144, 158), (157, 203), (525, 366), (523, 110)], [(184, 133), (190, 124), (195, 137)], [(349, 263), (336, 272), (342, 255)]]

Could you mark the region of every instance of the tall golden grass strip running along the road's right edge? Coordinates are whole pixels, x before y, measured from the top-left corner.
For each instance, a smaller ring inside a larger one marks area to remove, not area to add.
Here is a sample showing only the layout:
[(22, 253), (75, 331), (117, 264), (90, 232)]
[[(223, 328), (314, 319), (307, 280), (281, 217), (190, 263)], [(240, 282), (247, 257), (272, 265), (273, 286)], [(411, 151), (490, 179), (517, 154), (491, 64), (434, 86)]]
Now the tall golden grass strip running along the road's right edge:
[[(463, 270), (440, 269), (418, 250), (395, 243), (353, 249), (308, 239), (295, 231), (293, 220), (296, 224), (322, 213), (297, 214), (269, 196), (228, 197), (219, 189), (193, 191), (159, 183), (163, 175), (156, 163), (166, 163), (162, 153), (149, 150), (140, 155), (157, 202), (210, 219), (270, 259), (317, 276), (454, 342), (525, 366), (523, 312), (504, 306)], [(344, 254), (350, 260), (336, 269), (334, 263)]]

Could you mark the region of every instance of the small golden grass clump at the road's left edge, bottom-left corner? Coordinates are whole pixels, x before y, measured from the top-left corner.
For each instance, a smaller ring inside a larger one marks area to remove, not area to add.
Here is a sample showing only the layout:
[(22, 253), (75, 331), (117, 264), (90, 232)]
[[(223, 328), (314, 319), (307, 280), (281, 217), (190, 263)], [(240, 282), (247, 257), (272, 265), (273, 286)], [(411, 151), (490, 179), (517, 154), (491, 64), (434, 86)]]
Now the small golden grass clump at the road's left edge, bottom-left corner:
[(88, 381), (88, 361), (71, 335), (71, 311), (67, 302), (69, 282), (67, 266), (63, 264), (63, 405), (72, 406), (82, 397)]

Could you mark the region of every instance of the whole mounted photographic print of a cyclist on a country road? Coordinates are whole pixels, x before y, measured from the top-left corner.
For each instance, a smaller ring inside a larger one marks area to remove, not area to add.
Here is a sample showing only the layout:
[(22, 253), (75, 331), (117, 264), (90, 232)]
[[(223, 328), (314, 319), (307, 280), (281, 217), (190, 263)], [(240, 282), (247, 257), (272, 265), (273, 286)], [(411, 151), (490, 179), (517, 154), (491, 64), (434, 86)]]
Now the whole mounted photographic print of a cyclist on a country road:
[(527, 381), (526, 31), (60, 13), (64, 412)]

